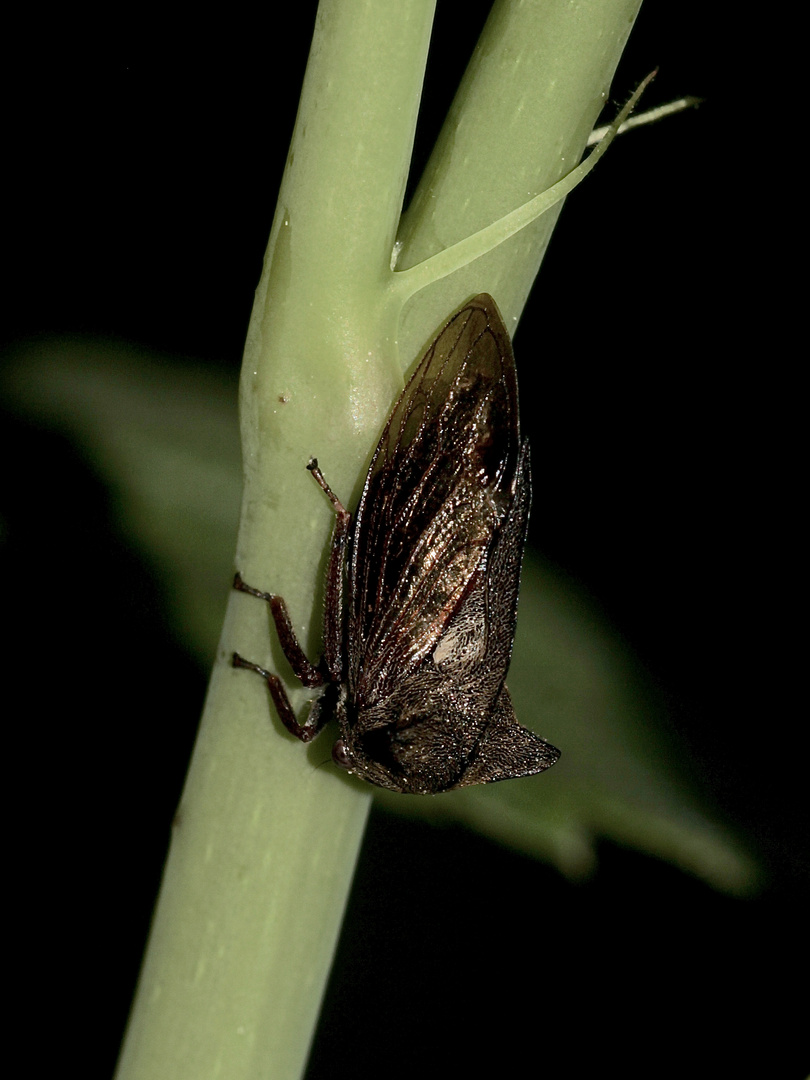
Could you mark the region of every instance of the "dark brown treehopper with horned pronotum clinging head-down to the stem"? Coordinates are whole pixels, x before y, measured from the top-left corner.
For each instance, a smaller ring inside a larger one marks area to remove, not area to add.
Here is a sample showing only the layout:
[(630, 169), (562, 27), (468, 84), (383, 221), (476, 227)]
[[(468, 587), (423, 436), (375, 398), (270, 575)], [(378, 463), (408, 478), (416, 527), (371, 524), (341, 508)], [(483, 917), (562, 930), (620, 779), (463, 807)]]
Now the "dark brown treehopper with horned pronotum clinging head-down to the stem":
[[(337, 717), (337, 765), (391, 791), (434, 794), (541, 772), (559, 752), (515, 719), (504, 685), (529, 516), (509, 334), (490, 296), (440, 330), (386, 424), (352, 521), (335, 508), (324, 654), (303, 654), (280, 596), (281, 646), (305, 686), (324, 687), (299, 724), (276, 675), (282, 723), (309, 742)], [(347, 566), (348, 564), (348, 566)], [(346, 585), (346, 600), (345, 596)]]

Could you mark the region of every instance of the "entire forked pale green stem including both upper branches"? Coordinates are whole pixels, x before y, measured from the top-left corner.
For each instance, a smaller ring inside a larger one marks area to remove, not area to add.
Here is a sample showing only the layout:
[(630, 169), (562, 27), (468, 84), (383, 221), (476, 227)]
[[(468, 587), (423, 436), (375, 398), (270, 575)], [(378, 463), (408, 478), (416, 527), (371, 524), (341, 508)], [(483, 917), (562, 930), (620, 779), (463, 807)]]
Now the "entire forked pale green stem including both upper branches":
[[(496, 3), (403, 221), (401, 266), (570, 171), (638, 2)], [(403, 312), (391, 251), (432, 14), (432, 0), (322, 0), (245, 347), (237, 566), (285, 597), (313, 657), (332, 512), (307, 461), (352, 505), (403, 367), (472, 293), (514, 324), (555, 216)], [(278, 670), (296, 707), (306, 698), (266, 605), (233, 594), (118, 1080), (292, 1080), (306, 1063), (369, 793), (318, 768), (328, 737), (305, 748), (268, 719), (234, 649)]]

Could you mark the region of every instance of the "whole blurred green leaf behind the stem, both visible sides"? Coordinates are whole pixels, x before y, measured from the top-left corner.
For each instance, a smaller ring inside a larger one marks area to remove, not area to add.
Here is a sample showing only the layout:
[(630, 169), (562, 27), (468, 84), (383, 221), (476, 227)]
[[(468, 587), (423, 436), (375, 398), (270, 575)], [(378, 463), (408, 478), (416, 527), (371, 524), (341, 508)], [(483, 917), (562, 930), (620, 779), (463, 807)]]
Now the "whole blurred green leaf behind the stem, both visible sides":
[[(121, 346), (45, 342), (5, 378), (22, 411), (69, 433), (114, 492), (125, 531), (157, 568), (175, 629), (214, 657), (232, 573), (241, 461), (235, 378)], [(696, 793), (658, 696), (593, 605), (529, 555), (509, 688), (522, 723), (563, 750), (549, 773), (406, 798), (397, 813), (460, 820), (578, 878), (600, 837), (733, 893), (757, 868)]]

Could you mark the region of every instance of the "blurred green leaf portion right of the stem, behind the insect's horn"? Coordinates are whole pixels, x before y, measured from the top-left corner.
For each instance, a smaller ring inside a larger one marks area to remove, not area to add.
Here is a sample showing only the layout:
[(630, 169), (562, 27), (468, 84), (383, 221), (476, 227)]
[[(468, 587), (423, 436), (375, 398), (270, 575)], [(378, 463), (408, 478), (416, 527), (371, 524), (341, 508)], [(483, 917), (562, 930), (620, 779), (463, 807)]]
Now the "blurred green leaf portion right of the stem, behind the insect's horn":
[(408, 800), (408, 811), (464, 821), (572, 878), (593, 870), (606, 837), (717, 889), (755, 888), (756, 867), (697, 795), (648, 677), (592, 602), (531, 553), (507, 681), (521, 721), (562, 747), (559, 761), (539, 782)]

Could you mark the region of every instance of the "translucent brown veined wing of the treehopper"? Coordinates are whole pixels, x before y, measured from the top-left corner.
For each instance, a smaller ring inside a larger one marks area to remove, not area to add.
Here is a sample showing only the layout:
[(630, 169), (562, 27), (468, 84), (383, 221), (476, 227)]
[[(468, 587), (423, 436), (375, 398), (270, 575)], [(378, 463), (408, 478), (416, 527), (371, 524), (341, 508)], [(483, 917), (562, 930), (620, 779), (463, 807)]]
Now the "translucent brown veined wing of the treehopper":
[(510, 511), (519, 453), (512, 345), (483, 294), (428, 349), (368, 470), (349, 581), (359, 706), (389, 697), (435, 648)]

